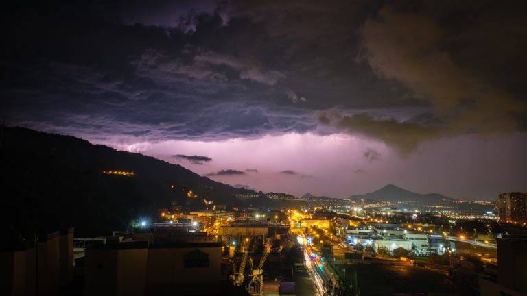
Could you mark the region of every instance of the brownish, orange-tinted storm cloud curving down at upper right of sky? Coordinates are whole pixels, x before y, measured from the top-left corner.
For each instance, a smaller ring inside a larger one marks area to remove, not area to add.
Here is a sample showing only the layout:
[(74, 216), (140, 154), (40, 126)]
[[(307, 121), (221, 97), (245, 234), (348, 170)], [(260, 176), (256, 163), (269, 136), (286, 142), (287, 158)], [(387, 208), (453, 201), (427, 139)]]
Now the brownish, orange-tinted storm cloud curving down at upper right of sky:
[(443, 124), (335, 112), (321, 114), (321, 123), (383, 140), (403, 153), (424, 140), (517, 130), (526, 102), (456, 63), (445, 49), (452, 36), (432, 16), (384, 6), (366, 20), (360, 36), (359, 60), (366, 60), (378, 77), (401, 82), (410, 95), (430, 102), (436, 122)]

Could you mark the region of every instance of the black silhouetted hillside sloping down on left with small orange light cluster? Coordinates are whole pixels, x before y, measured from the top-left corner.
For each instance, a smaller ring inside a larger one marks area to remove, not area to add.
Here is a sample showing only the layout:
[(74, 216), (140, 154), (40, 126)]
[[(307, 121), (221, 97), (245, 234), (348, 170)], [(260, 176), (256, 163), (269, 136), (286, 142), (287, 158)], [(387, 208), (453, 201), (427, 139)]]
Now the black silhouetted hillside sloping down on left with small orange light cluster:
[[(126, 230), (132, 219), (155, 219), (172, 203), (203, 208), (240, 206), (235, 193), (253, 193), (221, 184), (176, 164), (92, 145), (73, 136), (4, 127), (1, 136), (3, 225), (31, 232), (73, 226), (85, 235)], [(133, 171), (134, 176), (102, 171)], [(193, 190), (198, 198), (187, 197)]]

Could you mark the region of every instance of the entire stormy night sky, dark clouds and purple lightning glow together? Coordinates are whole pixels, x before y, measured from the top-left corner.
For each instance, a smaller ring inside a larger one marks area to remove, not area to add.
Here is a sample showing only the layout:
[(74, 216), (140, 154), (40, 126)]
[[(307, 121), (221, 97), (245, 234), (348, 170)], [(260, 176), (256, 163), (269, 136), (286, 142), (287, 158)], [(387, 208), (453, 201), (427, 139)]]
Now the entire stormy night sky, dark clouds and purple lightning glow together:
[(293, 195), (527, 191), (526, 1), (11, 2), (8, 126)]

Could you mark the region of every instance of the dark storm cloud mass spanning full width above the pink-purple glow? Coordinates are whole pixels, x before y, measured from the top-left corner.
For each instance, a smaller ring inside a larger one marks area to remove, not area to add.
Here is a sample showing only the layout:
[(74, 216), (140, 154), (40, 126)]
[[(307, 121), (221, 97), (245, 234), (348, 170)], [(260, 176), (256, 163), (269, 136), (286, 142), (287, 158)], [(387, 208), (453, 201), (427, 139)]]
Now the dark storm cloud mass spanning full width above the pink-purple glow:
[(524, 3), (330, 4), (9, 3), (0, 116), (106, 143), (329, 127), (403, 153), (527, 127)]

